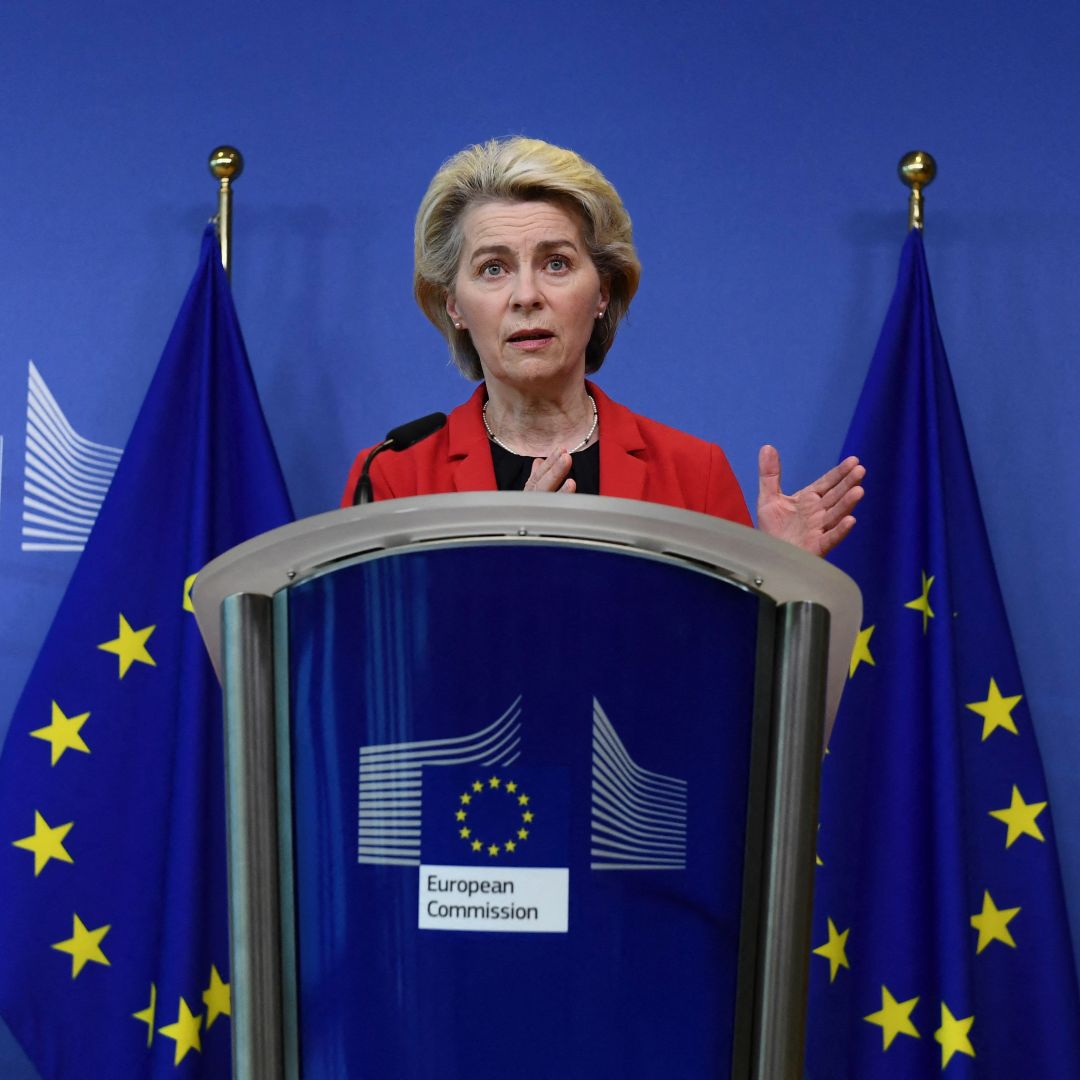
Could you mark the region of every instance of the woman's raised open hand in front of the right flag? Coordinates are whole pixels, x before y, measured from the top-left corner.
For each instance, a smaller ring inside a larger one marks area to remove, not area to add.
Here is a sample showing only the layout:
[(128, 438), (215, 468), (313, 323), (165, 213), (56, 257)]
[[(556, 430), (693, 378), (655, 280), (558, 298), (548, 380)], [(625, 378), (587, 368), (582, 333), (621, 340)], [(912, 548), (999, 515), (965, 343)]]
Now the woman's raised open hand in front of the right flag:
[(846, 458), (794, 495), (780, 490), (780, 454), (762, 446), (757, 456), (757, 527), (778, 540), (827, 555), (854, 527), (851, 515), (863, 497), (866, 470), (859, 458)]

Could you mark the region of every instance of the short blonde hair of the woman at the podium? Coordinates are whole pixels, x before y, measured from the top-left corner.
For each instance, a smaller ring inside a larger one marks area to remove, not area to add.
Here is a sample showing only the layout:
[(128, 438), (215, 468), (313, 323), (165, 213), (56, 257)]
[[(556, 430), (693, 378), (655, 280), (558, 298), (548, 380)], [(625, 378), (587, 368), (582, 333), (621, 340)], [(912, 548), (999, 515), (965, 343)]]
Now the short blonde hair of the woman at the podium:
[(514, 136), (467, 147), (446, 161), (416, 215), (413, 292), (417, 303), (446, 338), (461, 374), (482, 379), (480, 355), (469, 332), (455, 329), (446, 297), (461, 262), (464, 212), (492, 200), (546, 200), (581, 218), (585, 246), (610, 294), (604, 318), (596, 320), (585, 348), (585, 370), (597, 370), (637, 292), (642, 264), (619, 193), (595, 165), (572, 150)]

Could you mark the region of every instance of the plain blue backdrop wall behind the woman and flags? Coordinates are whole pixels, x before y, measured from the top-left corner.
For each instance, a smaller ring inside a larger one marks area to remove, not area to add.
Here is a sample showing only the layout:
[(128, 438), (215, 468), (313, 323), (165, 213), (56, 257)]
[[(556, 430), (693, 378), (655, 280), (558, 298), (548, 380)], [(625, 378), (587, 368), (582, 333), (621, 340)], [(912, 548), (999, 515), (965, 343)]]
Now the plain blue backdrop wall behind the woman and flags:
[(599, 381), (724, 445), (751, 496), (759, 443), (793, 487), (839, 450), (904, 237), (895, 162), (921, 147), (941, 166), (942, 333), (1080, 930), (1080, 147), (1061, 138), (1078, 55), (1063, 2), (5, 5), (0, 729), (76, 558), (23, 546), (30, 365), (31, 431), (58, 422), (51, 395), (79, 436), (123, 445), (217, 144), (247, 159), (234, 291), (298, 514), (336, 502), (357, 447), (468, 392), (410, 298), (415, 207), (467, 143), (524, 132), (609, 175), (645, 276)]

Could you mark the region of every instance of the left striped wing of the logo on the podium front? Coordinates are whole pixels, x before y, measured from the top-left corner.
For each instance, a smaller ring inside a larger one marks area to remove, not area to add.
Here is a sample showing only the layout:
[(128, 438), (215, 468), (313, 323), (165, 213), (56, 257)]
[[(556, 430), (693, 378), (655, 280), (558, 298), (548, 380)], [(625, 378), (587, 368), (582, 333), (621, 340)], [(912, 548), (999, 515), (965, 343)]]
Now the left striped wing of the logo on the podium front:
[(420, 865), (420, 770), (426, 765), (510, 765), (521, 751), (518, 697), (494, 724), (457, 739), (360, 747), (360, 859)]

